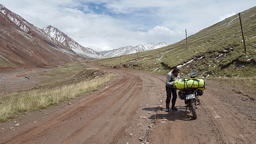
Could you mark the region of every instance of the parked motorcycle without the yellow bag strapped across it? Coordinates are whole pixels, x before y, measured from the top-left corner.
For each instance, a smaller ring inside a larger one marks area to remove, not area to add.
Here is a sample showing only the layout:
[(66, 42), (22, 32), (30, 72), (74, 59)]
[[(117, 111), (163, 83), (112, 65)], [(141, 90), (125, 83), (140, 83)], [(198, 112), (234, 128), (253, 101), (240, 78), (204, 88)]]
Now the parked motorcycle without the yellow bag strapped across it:
[[(195, 73), (196, 72), (192, 72), (192, 74), (195, 74)], [(195, 79), (197, 76), (191, 76), (188, 79), (198, 80), (198, 79)], [(203, 90), (200, 90), (198, 88), (184, 88), (184, 89), (180, 89), (178, 92), (179, 98), (185, 101), (186, 111), (187, 109), (189, 109), (190, 112), (192, 112), (194, 119), (197, 119), (196, 109), (197, 109), (197, 105), (200, 104), (199, 96), (202, 96), (202, 95), (203, 95)]]

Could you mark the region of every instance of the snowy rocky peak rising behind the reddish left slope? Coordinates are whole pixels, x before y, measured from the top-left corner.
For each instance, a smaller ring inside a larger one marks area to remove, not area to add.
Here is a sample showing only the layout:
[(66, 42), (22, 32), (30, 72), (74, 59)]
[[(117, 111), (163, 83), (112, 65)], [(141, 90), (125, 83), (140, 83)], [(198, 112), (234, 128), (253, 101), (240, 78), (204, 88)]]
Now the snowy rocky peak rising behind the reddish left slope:
[(69, 36), (67, 36), (64, 32), (61, 32), (59, 29), (52, 25), (48, 25), (47, 27), (42, 29), (52, 40), (56, 40), (64, 45), (69, 50), (74, 51), (77, 55), (95, 59), (95, 58), (103, 58), (104, 56), (99, 52), (91, 48), (85, 48), (81, 46), (76, 41), (72, 40)]

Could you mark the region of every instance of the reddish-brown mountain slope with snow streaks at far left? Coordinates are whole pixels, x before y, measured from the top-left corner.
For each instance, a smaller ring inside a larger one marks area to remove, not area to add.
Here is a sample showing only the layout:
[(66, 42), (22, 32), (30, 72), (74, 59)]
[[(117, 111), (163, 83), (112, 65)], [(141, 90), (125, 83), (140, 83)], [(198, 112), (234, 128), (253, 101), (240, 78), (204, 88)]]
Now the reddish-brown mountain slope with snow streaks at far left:
[(66, 64), (83, 59), (0, 4), (0, 71)]

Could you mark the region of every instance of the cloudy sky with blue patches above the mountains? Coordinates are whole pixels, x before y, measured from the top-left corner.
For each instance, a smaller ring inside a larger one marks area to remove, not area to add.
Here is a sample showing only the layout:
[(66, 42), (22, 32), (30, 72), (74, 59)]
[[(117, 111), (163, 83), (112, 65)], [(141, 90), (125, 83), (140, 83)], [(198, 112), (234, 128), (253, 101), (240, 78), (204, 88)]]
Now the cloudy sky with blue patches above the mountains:
[(256, 6), (256, 0), (0, 0), (41, 28), (52, 25), (96, 51), (169, 44)]

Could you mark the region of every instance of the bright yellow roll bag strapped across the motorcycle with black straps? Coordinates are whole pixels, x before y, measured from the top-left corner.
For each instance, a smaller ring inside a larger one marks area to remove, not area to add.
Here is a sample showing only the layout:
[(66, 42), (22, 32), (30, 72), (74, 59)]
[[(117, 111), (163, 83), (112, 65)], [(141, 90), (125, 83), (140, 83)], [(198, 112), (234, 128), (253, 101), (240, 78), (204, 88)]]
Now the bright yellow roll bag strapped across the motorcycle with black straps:
[(202, 79), (179, 79), (174, 81), (174, 86), (178, 89), (198, 88), (204, 90), (205, 82)]

